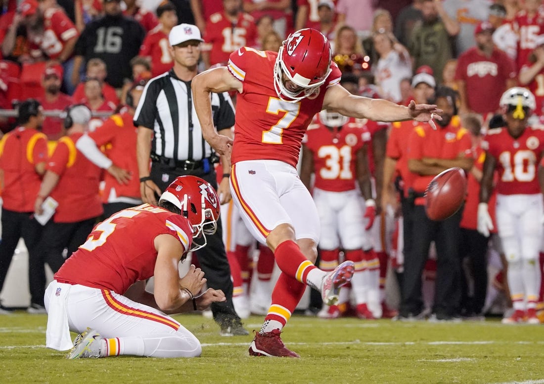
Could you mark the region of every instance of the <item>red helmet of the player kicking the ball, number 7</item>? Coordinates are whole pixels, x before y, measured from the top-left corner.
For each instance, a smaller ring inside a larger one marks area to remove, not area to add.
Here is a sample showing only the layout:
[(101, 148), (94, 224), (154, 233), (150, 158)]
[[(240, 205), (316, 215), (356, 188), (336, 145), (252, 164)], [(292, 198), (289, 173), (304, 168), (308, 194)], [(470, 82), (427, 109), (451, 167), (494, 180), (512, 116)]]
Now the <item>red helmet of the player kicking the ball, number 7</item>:
[[(312, 95), (331, 73), (331, 55), (329, 40), (316, 29), (300, 29), (287, 36), (274, 65), (274, 87), (280, 99), (296, 102)], [(283, 73), (300, 90), (289, 91)]]

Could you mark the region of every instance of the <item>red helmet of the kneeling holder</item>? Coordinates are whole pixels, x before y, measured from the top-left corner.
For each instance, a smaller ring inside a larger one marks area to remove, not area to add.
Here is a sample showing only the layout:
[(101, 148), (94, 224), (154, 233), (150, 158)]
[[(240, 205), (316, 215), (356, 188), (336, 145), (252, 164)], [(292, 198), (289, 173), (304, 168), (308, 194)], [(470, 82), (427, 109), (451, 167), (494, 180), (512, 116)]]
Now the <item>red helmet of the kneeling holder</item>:
[(162, 201), (177, 206), (193, 226), (193, 245), (189, 250), (205, 247), (206, 235), (217, 230), (220, 210), (219, 197), (209, 182), (196, 176), (177, 177), (160, 196), (159, 204)]

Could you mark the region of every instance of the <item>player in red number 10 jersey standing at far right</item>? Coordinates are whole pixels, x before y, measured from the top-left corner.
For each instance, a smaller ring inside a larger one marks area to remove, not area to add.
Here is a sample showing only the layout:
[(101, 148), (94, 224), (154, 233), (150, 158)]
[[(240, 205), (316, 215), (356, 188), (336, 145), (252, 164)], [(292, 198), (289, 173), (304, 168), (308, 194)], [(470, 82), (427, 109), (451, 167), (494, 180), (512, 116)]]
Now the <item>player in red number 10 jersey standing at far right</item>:
[(514, 313), (503, 323), (538, 324), (542, 244), (542, 188), (544, 169), (544, 130), (527, 125), (535, 110), (533, 93), (521, 87), (510, 88), (500, 98), (506, 127), (490, 129), (482, 148), (486, 150), (478, 205), (478, 231), (489, 236), (493, 229), (487, 202), (497, 181), (497, 231), (508, 261), (508, 286)]

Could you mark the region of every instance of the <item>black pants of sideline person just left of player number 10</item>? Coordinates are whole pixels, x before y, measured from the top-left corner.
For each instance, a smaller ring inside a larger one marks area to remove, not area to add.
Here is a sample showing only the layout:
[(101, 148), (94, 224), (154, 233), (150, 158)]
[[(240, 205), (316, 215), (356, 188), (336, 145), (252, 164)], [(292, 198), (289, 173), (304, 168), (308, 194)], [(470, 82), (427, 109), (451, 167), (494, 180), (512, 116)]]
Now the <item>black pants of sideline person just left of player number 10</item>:
[(487, 237), (477, 230), (461, 228), (460, 262), (462, 265), (463, 260), (467, 259), (468, 272), (474, 285), (472, 294), (469, 294), (466, 275), (461, 272), (462, 312), (478, 314), (484, 308), (487, 294), (487, 243)]

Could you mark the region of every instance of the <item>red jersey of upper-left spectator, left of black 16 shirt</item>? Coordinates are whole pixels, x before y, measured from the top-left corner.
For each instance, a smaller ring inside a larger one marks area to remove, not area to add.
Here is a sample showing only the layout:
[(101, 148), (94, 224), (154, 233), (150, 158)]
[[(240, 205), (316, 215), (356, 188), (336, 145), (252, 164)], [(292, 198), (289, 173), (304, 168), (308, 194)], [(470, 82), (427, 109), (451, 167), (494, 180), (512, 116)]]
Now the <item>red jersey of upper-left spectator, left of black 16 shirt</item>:
[(43, 34), (29, 34), (30, 54), (34, 57), (45, 53), (50, 59), (57, 59), (65, 43), (79, 36), (76, 26), (60, 8), (48, 8), (44, 12)]

